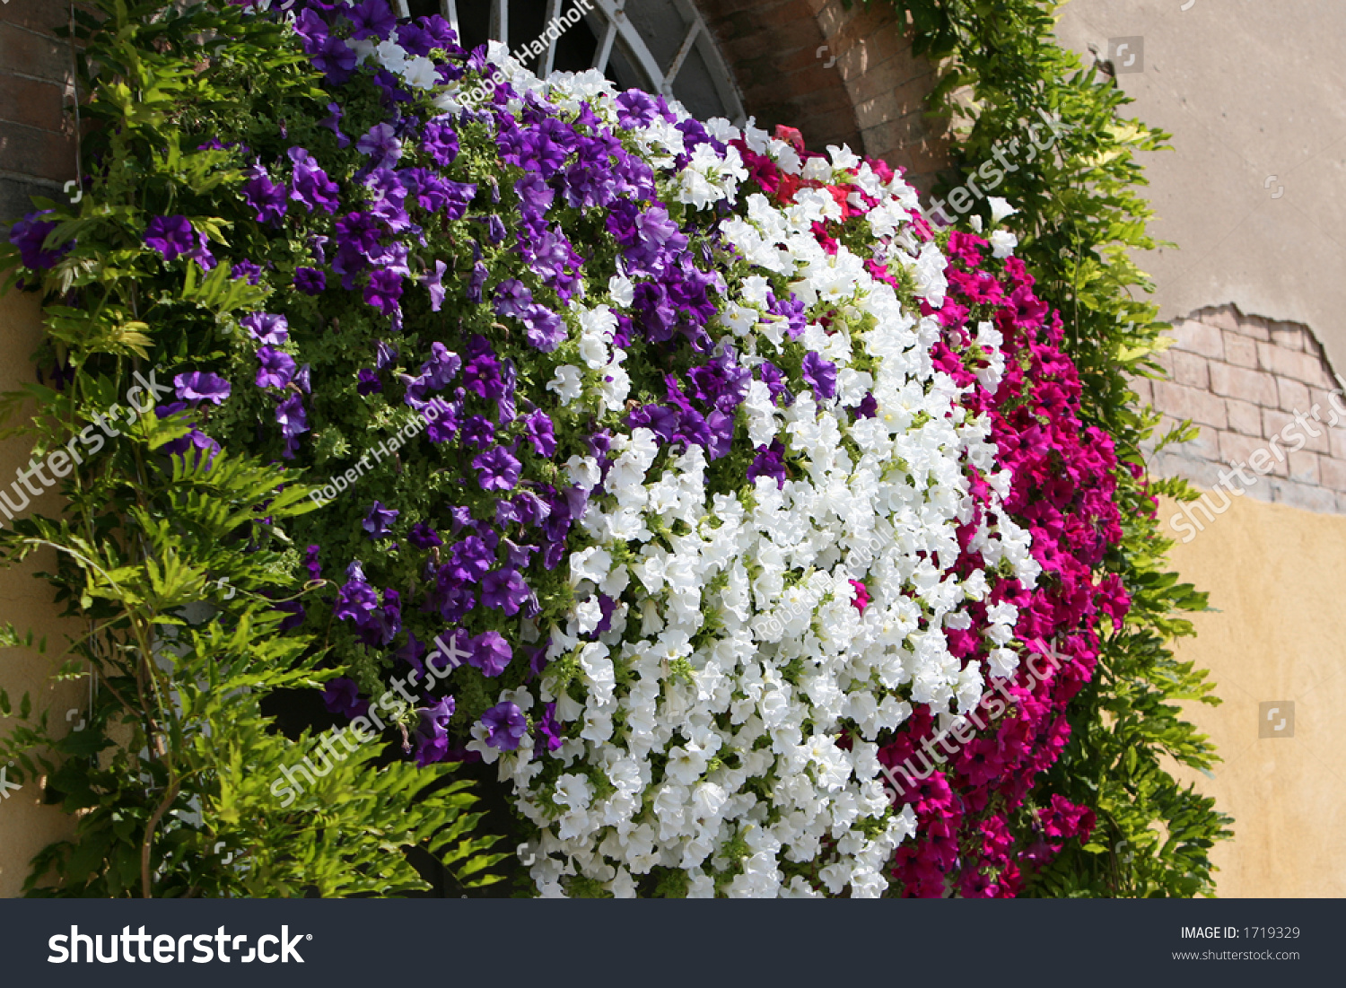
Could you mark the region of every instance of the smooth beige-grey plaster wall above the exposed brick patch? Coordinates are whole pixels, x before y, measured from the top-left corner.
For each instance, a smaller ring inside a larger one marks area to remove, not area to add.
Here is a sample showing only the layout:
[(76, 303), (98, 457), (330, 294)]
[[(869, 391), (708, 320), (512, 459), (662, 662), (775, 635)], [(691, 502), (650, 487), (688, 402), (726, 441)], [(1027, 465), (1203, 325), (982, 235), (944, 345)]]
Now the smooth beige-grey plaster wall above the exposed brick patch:
[(1303, 323), (1335, 367), (1346, 367), (1343, 12), (1341, 0), (1070, 0), (1057, 28), (1085, 65), (1090, 43), (1106, 58), (1110, 39), (1143, 39), (1143, 61), (1116, 79), (1136, 100), (1128, 116), (1172, 133), (1171, 151), (1141, 155), (1151, 233), (1179, 248), (1137, 257), (1162, 316), (1233, 303)]

